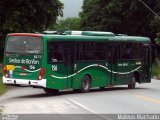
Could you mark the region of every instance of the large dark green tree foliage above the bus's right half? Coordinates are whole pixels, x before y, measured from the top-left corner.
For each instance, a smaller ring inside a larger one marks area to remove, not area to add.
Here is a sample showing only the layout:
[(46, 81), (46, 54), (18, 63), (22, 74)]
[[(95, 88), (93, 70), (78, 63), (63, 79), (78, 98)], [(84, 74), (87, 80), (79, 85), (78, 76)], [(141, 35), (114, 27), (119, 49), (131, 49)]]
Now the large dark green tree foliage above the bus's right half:
[[(159, 0), (145, 0), (155, 12), (160, 11)], [(153, 37), (159, 24), (155, 15), (138, 0), (84, 0), (81, 27), (84, 30), (112, 31), (128, 35)], [(153, 30), (154, 29), (154, 30)]]

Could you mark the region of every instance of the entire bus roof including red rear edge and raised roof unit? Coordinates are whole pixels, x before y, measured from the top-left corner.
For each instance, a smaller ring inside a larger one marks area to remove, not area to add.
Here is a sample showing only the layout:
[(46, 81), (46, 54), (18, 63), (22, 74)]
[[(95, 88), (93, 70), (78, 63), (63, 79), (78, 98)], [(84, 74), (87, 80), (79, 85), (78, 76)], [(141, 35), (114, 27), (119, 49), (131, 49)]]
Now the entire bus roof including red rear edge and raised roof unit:
[[(68, 32), (68, 33), (67, 33)], [(65, 34), (36, 34), (36, 33), (11, 33), (8, 36), (32, 36), (32, 37), (44, 37), (49, 40), (55, 41), (110, 41), (110, 42), (139, 42), (150, 43), (148, 37), (138, 36), (115, 36), (112, 32), (97, 32), (97, 31), (76, 31), (74, 35), (67, 31)], [(82, 33), (82, 34), (80, 34)]]

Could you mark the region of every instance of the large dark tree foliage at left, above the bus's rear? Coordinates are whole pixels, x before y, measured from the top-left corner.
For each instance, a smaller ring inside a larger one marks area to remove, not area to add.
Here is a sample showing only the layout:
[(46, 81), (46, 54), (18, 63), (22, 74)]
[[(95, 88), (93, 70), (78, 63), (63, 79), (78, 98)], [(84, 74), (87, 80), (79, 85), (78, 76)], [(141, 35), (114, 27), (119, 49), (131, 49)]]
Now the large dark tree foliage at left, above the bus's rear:
[(62, 16), (59, 0), (1, 0), (0, 33), (43, 31)]

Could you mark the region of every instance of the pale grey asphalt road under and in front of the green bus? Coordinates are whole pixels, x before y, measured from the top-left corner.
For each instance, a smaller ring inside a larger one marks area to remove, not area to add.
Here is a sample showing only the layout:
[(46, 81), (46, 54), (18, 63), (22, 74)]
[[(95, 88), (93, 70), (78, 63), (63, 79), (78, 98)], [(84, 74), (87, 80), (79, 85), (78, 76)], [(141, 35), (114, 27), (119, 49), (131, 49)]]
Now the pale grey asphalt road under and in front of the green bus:
[(0, 97), (0, 111), (3, 114), (98, 114), (106, 119), (110, 118), (104, 114), (160, 114), (160, 80), (137, 84), (136, 89), (118, 86), (93, 89), (85, 94), (62, 91), (47, 95), (41, 89), (13, 87)]

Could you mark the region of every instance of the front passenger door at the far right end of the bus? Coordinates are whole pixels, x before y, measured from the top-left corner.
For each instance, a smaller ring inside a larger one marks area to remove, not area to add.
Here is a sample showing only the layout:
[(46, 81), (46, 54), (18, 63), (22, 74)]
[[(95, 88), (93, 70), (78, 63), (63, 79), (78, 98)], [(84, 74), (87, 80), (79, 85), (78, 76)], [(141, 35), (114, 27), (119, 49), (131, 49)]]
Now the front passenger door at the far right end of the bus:
[(142, 48), (142, 82), (151, 82), (151, 48)]

